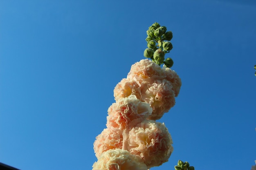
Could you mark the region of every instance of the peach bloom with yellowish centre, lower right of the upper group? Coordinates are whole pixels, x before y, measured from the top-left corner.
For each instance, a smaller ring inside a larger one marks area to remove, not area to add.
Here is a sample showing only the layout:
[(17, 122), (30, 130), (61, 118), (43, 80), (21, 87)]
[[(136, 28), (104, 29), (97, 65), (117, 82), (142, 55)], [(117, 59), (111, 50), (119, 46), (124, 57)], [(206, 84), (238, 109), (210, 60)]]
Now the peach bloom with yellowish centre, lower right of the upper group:
[(141, 101), (149, 103), (153, 108), (150, 120), (160, 119), (175, 105), (175, 94), (172, 85), (167, 80), (156, 80), (142, 91)]

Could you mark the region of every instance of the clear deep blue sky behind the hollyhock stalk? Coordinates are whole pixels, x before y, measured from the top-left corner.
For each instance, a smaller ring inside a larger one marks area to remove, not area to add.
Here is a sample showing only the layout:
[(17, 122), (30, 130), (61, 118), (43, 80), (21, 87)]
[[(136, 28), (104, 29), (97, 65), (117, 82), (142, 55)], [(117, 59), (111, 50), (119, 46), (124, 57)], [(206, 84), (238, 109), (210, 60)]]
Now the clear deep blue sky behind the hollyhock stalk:
[(173, 32), (176, 105), (159, 121), (167, 163), (250, 170), (256, 160), (256, 2), (1, 0), (0, 162), (90, 170), (113, 89), (144, 59), (154, 22)]

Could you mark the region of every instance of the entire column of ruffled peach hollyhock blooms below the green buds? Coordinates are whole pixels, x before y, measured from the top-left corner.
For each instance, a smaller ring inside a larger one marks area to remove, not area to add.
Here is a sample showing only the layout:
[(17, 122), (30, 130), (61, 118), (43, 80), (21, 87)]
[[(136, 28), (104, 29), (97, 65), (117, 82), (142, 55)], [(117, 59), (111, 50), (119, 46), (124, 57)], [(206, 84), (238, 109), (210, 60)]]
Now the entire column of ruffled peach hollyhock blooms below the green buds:
[(148, 170), (168, 161), (173, 141), (156, 120), (175, 105), (180, 86), (180, 77), (170, 68), (148, 59), (133, 64), (114, 89), (107, 128), (94, 142), (98, 161), (93, 170)]

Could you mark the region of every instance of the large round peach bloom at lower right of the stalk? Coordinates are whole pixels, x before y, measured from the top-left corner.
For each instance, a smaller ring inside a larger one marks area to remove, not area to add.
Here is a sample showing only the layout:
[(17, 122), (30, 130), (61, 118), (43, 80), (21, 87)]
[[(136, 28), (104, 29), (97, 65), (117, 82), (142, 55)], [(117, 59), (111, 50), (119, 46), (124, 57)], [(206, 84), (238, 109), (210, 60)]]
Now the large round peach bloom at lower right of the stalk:
[(141, 157), (148, 168), (167, 162), (173, 151), (171, 135), (160, 122), (142, 121), (123, 135), (123, 149)]

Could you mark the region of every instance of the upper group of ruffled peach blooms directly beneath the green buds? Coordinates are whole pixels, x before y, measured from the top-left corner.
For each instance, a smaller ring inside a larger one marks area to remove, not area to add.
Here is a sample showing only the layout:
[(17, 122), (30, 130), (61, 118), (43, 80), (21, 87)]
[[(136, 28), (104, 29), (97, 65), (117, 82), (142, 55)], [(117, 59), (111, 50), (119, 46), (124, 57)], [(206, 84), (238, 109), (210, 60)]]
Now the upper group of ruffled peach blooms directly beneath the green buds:
[(175, 105), (180, 93), (181, 80), (171, 68), (161, 68), (152, 60), (141, 60), (131, 66), (127, 78), (114, 89), (115, 100), (135, 95), (141, 102), (150, 104), (150, 120), (160, 119)]

